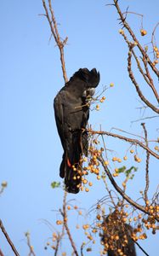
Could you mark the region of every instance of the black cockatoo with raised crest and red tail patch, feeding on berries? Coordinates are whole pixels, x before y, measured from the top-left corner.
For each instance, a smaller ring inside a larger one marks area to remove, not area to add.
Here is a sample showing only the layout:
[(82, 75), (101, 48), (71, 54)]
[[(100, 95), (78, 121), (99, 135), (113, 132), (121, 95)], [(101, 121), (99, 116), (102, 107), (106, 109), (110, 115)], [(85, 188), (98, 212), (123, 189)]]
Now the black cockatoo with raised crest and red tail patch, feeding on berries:
[(64, 148), (60, 177), (65, 177), (65, 190), (78, 193), (81, 177), (73, 169), (81, 168), (82, 154), (88, 153), (88, 96), (94, 95), (99, 73), (93, 68), (80, 68), (54, 98), (54, 115)]

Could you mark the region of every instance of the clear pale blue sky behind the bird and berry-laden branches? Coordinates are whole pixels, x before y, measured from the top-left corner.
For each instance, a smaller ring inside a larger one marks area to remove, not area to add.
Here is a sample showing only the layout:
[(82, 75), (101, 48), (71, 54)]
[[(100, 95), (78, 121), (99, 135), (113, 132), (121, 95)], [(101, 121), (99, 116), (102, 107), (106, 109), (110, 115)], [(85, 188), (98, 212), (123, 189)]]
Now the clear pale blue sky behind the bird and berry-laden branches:
[[(144, 15), (144, 27), (148, 32), (146, 38), (139, 36), (139, 17), (129, 15), (128, 20), (141, 43), (149, 43), (151, 32), (159, 21), (158, 1), (120, 2), (123, 10), (129, 6), (129, 10)], [(141, 105), (128, 78), (128, 49), (118, 33), (120, 26), (116, 20), (116, 10), (106, 7), (105, 3), (108, 2), (54, 1), (60, 35), (69, 38), (65, 47), (67, 76), (70, 78), (80, 67), (96, 67), (101, 77), (99, 91), (104, 85), (111, 82), (115, 84), (113, 89), (105, 92), (106, 101), (101, 105), (101, 111), (91, 112), (90, 123), (94, 129), (99, 130), (101, 124), (105, 131), (117, 127), (141, 134), (139, 122), (131, 125), (132, 120), (141, 117), (136, 109)], [(49, 256), (53, 255), (52, 251), (44, 251), (43, 247), (51, 231), (42, 219), (55, 223), (57, 216), (53, 209), (61, 206), (63, 196), (61, 189), (53, 190), (50, 187), (52, 181), (61, 182), (59, 166), (62, 148), (53, 110), (54, 96), (64, 85), (59, 50), (53, 39), (49, 42), (48, 21), (39, 16), (44, 12), (42, 1), (1, 0), (0, 9), (0, 182), (6, 180), (9, 183), (0, 198), (0, 218), (20, 256), (28, 253), (24, 236), (27, 230), (31, 232), (36, 254)], [(156, 38), (158, 36), (159, 32), (156, 31)], [(149, 90), (145, 93), (153, 102)], [(148, 111), (146, 114), (153, 115)], [(157, 119), (148, 119), (146, 126), (151, 139), (158, 136)], [(128, 148), (127, 144), (120, 144), (115, 139), (107, 139), (106, 143), (121, 157)], [(139, 152), (143, 154), (142, 150)], [(158, 183), (156, 166), (156, 160), (151, 157), (150, 195)], [(139, 187), (144, 187), (144, 167), (144, 163), (139, 166), (139, 173), (134, 180), (138, 186), (131, 183), (129, 195), (136, 195)], [(104, 185), (95, 183), (94, 189), (87, 195), (68, 195), (68, 199), (76, 198), (81, 207), (88, 208), (104, 195)], [(74, 224), (70, 224), (74, 229)], [(76, 233), (74, 236), (78, 244), (79, 235)], [(0, 241), (4, 255), (13, 255), (3, 234), (0, 235)], [(148, 240), (140, 241), (140, 244), (147, 253), (155, 255), (159, 249), (157, 241), (158, 235), (150, 235)], [(69, 250), (66, 248), (68, 255), (71, 253)], [(143, 253), (138, 250), (138, 255), (142, 256)]]

